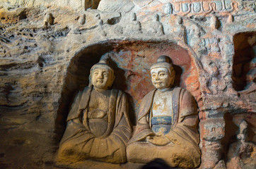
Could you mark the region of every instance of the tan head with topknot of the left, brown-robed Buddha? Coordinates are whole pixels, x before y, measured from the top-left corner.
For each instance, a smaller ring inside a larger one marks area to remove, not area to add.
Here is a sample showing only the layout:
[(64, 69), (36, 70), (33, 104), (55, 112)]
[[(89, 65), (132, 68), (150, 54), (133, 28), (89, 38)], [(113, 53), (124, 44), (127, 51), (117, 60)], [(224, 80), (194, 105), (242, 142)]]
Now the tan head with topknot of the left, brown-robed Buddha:
[(96, 89), (107, 89), (115, 80), (114, 70), (107, 65), (105, 59), (101, 59), (91, 68), (89, 80)]

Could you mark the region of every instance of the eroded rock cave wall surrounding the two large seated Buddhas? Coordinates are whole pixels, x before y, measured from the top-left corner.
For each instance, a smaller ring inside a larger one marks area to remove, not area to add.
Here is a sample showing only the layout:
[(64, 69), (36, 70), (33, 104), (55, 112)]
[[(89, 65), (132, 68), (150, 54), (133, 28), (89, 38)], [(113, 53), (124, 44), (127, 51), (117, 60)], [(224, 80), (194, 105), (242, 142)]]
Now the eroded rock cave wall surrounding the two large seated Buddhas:
[[(6, 0), (0, 2), (0, 168), (59, 168), (54, 157), (69, 108), (103, 55), (112, 59), (114, 88), (126, 92), (133, 125), (153, 89), (150, 66), (158, 56), (172, 58), (175, 84), (199, 106), (199, 168), (231, 168), (228, 152), (235, 152), (243, 120), (248, 145), (255, 145), (254, 1)], [(69, 168), (103, 165), (138, 167), (88, 161)]]

